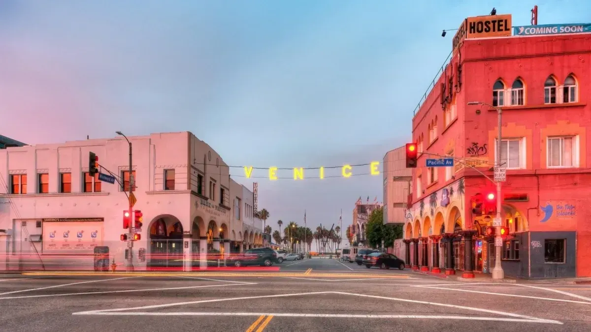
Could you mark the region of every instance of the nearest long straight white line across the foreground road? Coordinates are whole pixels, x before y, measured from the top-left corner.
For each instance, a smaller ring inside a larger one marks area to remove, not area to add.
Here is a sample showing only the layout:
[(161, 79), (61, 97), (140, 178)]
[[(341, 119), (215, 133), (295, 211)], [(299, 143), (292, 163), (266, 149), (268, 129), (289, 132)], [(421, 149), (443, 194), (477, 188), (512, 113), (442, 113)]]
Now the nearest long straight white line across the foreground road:
[[(74, 313), (74, 315), (89, 315), (86, 313)], [(146, 313), (146, 312), (128, 312), (128, 313), (104, 313), (95, 312), (92, 315), (137, 315), (137, 316), (274, 316), (274, 317), (322, 317), (322, 318), (427, 318), (427, 319), (452, 319), (452, 320), (477, 320), (477, 321), (511, 321), (521, 323), (546, 323), (563, 324), (556, 320), (546, 320), (543, 318), (503, 318), (503, 317), (470, 317), (470, 316), (443, 316), (443, 315), (351, 315), (351, 314), (293, 314), (293, 313)]]

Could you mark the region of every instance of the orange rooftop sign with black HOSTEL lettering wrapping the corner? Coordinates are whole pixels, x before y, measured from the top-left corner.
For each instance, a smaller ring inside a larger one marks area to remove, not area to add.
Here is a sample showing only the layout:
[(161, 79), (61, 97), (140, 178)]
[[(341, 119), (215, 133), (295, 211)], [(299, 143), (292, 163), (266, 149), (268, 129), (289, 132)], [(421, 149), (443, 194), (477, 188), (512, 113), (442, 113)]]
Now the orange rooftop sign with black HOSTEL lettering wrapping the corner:
[(511, 35), (511, 14), (476, 16), (464, 19), (452, 40), (452, 51), (456, 54), (465, 39), (508, 37)]

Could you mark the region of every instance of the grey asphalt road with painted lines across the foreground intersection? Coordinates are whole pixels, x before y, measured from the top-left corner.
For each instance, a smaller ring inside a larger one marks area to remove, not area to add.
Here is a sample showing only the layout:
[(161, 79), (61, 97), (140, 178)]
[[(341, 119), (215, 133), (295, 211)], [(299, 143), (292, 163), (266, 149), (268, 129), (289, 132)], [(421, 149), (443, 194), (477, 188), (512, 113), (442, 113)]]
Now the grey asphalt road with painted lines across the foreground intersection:
[(228, 275), (0, 275), (0, 330), (591, 330), (589, 286), (465, 284), (330, 259), (280, 267)]

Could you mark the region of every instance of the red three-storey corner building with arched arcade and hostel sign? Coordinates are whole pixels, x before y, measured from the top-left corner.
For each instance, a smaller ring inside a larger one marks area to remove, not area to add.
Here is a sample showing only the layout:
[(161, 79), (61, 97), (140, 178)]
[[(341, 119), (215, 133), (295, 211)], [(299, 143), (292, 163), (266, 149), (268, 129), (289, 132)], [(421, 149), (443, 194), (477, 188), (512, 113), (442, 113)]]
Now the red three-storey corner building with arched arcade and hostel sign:
[[(485, 229), (495, 214), (475, 215), (471, 198), (495, 193), (482, 174), (493, 178), (498, 107), (505, 275), (591, 276), (591, 34), (509, 35), (511, 17), (500, 16), (509, 17), (506, 37), (471, 30), (498, 16), (462, 23), (449, 64), (415, 111), (422, 153), (405, 220), (407, 262), (466, 277), (491, 272), (495, 243)], [(553, 31), (523, 28), (515, 34)], [(454, 166), (426, 167), (439, 156)]]

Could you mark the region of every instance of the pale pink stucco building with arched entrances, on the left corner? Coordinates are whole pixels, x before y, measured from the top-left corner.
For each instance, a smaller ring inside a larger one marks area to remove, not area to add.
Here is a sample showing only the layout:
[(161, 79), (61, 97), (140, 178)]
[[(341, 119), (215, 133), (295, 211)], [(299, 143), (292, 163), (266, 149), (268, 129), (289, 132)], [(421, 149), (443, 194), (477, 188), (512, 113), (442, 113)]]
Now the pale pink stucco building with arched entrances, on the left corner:
[[(209, 145), (190, 132), (128, 139), (134, 210), (144, 215), (135, 268), (190, 271), (206, 267), (206, 252), (262, 243), (260, 231), (243, 237), (243, 188)], [(125, 182), (87, 176), (91, 151), (100, 172)], [(107, 246), (110, 261), (124, 266), (128, 170), (121, 136), (0, 150), (0, 270), (92, 269), (95, 246)]]

